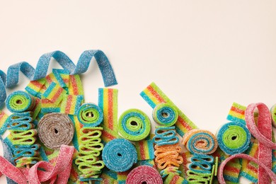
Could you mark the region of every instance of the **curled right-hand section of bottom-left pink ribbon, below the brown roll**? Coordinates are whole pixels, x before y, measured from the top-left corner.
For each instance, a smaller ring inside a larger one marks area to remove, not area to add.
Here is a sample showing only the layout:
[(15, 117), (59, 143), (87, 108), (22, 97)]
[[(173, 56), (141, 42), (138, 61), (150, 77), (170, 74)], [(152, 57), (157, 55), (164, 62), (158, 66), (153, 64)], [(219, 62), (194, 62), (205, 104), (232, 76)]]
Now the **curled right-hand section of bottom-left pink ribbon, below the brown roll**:
[[(36, 163), (29, 171), (29, 183), (37, 184), (51, 180), (60, 184), (66, 184), (71, 171), (72, 156), (74, 146), (62, 145), (60, 147), (57, 163), (52, 166), (49, 162), (40, 161)], [(40, 169), (38, 169), (40, 168)], [(43, 168), (43, 170), (41, 170)]]

